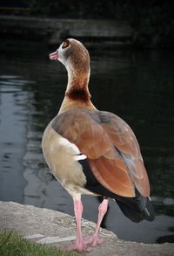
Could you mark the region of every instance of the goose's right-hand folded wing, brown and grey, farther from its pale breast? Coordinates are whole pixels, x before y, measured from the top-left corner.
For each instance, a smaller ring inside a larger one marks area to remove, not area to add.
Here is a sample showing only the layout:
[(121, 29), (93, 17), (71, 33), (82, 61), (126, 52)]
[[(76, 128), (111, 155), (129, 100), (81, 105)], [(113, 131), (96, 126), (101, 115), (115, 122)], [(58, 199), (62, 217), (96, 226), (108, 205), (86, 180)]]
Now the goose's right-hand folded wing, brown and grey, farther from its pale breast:
[(144, 167), (144, 161), (141, 156), (137, 138), (130, 126), (115, 114), (108, 112), (99, 112), (101, 126), (109, 135), (110, 141), (114, 144), (124, 159), (131, 180), (137, 187), (137, 190), (144, 197), (150, 196), (150, 183), (147, 172)]

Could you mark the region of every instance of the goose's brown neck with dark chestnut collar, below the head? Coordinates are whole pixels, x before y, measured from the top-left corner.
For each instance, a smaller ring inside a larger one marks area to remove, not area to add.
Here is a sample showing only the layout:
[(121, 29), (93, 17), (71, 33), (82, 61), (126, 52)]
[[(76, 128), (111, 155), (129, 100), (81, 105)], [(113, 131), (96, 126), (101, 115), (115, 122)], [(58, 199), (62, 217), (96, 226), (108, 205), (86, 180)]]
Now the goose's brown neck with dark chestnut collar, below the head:
[(68, 85), (59, 113), (72, 108), (96, 109), (90, 101), (88, 88), (89, 80), (90, 70), (85, 73), (80, 73), (76, 70), (68, 70)]

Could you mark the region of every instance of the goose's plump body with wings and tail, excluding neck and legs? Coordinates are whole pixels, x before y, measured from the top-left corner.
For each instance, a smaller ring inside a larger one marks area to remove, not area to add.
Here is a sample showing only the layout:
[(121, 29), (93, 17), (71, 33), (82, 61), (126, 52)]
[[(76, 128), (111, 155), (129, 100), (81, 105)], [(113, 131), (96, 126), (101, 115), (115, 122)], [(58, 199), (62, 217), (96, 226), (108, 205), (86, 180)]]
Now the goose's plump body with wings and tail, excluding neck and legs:
[(43, 152), (50, 170), (69, 192), (76, 184), (84, 194), (116, 199), (132, 221), (153, 219), (137, 139), (117, 115), (89, 109), (58, 114), (44, 133)]

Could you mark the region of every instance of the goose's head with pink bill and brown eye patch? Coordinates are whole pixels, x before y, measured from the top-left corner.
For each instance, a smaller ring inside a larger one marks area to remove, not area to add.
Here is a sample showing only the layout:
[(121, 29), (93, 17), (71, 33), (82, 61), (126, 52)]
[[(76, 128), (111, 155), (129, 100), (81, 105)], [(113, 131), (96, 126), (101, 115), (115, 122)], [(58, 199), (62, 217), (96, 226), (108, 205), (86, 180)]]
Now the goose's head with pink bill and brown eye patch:
[(76, 39), (68, 38), (50, 53), (50, 59), (59, 60), (67, 71), (75, 73), (90, 73), (90, 55), (84, 45)]

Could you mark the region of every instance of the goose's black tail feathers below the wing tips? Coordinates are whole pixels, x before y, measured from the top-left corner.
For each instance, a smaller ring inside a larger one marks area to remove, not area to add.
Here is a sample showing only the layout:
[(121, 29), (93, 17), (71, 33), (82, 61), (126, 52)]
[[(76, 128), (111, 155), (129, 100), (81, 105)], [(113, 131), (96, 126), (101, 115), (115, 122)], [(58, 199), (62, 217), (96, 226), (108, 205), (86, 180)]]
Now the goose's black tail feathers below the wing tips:
[(143, 197), (136, 191), (136, 197), (117, 197), (116, 202), (127, 218), (133, 222), (144, 219), (152, 221), (155, 218), (150, 197)]

